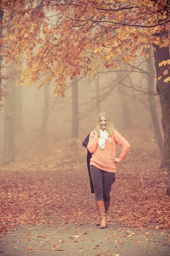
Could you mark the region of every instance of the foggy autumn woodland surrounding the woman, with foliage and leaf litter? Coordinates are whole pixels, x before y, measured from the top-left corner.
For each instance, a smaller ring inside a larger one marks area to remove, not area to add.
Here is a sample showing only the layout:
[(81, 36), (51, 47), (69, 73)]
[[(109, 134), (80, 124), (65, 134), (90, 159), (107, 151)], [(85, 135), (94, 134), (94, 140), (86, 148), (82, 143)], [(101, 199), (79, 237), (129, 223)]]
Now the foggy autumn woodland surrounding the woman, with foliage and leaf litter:
[(169, 44), (168, 0), (0, 0), (2, 237), (95, 223), (82, 141), (101, 111), (131, 146), (109, 218), (170, 228)]

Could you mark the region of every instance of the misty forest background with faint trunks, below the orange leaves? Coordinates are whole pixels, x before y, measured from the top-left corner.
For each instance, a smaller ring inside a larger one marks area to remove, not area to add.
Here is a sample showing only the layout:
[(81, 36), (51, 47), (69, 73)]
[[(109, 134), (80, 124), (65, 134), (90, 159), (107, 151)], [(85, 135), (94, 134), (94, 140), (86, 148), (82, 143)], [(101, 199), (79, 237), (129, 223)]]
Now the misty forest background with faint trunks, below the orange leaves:
[[(119, 70), (105, 67), (97, 70), (97, 78), (68, 79), (65, 99), (60, 94), (54, 95), (55, 83), (40, 89), (39, 83), (31, 88), (27, 84), (15, 87), (21, 70), (17, 71), (12, 65), (6, 67), (2, 82), (8, 95), (3, 98), (0, 110), (1, 163), (17, 159), (27, 144), (29, 149), (29, 145), (41, 147), (41, 143), (45, 143), (48, 150), (51, 143), (59, 141), (71, 143), (70, 140), (76, 138), (82, 142), (96, 127), (96, 117), (101, 111), (109, 114), (114, 127), (127, 140), (135, 131), (143, 130), (152, 134), (150, 139), (155, 143), (160, 140), (163, 143), (153, 58), (139, 58), (132, 72), (131, 65), (120, 61), (117, 64)], [(43, 75), (40, 79), (44, 78)]]

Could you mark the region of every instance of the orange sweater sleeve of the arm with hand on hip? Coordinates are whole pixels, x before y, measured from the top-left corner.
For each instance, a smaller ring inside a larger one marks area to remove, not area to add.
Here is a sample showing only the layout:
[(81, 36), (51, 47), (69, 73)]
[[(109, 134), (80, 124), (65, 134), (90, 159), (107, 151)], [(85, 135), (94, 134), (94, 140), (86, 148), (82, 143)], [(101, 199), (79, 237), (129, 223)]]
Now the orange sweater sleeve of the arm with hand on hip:
[(125, 140), (124, 137), (122, 137), (122, 135), (119, 134), (118, 131), (114, 131), (114, 138), (116, 140), (117, 143), (119, 143), (123, 148), (122, 148), (122, 152), (119, 156), (119, 163), (122, 162), (122, 160), (127, 156), (129, 150), (130, 150), (130, 144), (128, 143), (127, 140)]

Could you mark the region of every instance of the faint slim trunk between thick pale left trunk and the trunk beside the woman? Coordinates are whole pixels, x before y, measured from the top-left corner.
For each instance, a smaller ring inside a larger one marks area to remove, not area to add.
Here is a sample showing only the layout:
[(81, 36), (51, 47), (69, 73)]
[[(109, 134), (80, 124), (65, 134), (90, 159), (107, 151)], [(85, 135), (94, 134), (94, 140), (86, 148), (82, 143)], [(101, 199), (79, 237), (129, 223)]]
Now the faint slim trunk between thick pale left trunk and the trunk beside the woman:
[(50, 86), (49, 84), (46, 84), (45, 90), (44, 90), (44, 109), (43, 109), (41, 128), (40, 128), (40, 137), (42, 138), (47, 136), (49, 104), (50, 104)]

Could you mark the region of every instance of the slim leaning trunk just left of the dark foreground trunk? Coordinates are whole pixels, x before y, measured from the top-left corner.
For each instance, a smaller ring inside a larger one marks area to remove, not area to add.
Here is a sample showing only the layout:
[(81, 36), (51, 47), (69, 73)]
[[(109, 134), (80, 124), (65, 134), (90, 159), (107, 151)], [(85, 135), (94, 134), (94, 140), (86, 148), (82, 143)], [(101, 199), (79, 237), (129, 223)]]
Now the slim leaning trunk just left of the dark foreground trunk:
[[(148, 78), (148, 89), (150, 91), (154, 91), (154, 80), (153, 77), (155, 76), (155, 68), (153, 65), (153, 59), (152, 57), (146, 58), (147, 61), (147, 69), (148, 73), (150, 74), (150, 77)], [(148, 93), (148, 99), (149, 99), (149, 106), (150, 106), (150, 114), (152, 118), (152, 123), (153, 123), (153, 131), (156, 137), (156, 141), (159, 147), (159, 153), (161, 156), (161, 166), (160, 168), (165, 168), (166, 167), (166, 162), (165, 162), (165, 152), (164, 152), (164, 140), (161, 135), (161, 129), (159, 126), (159, 121), (158, 121), (158, 115), (156, 112), (156, 105), (155, 105), (155, 99), (154, 96)]]

